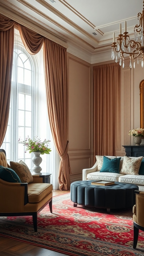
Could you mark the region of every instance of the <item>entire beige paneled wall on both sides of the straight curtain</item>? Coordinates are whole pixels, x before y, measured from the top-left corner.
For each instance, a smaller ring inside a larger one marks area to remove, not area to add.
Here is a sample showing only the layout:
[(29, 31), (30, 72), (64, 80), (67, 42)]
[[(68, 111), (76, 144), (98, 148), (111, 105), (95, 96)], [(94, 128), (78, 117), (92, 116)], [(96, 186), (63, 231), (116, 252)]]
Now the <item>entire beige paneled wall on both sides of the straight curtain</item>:
[[(68, 53), (71, 182), (81, 180), (82, 169), (93, 166), (93, 66), (111, 62), (90, 64)], [(125, 68), (121, 67), (121, 147), (116, 149), (118, 156), (125, 155), (122, 145), (133, 145), (129, 130), (140, 127), (139, 84), (143, 79), (144, 68), (135, 63), (135, 69), (130, 69), (129, 59), (125, 60)]]

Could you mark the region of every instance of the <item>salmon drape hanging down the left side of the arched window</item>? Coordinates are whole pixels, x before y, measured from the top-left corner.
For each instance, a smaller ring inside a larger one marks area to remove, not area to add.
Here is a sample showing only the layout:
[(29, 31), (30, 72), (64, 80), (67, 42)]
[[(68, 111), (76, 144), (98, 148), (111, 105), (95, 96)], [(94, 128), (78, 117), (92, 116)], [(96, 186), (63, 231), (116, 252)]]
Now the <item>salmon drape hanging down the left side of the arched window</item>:
[(13, 68), (15, 22), (0, 14), (0, 146), (3, 143), (9, 116)]

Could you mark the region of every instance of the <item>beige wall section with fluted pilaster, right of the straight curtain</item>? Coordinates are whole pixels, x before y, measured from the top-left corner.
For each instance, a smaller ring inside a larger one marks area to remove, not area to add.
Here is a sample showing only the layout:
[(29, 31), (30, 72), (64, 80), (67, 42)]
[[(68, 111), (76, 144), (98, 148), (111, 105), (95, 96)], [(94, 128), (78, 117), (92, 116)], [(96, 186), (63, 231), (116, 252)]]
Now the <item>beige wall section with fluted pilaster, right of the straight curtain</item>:
[[(135, 68), (129, 68), (129, 59), (125, 68), (121, 68), (121, 145), (133, 145), (133, 136), (129, 130), (140, 127), (140, 81), (144, 79), (144, 68), (141, 63), (135, 63)], [(143, 142), (142, 142), (143, 144)], [(121, 147), (121, 155), (125, 149)]]

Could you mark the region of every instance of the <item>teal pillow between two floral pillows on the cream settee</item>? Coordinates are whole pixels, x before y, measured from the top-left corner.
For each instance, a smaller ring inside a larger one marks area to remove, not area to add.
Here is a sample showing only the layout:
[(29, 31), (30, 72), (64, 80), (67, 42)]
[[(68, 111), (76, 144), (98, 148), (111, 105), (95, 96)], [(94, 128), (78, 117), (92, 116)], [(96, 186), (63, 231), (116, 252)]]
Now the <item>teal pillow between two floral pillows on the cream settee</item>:
[(100, 172), (103, 173), (119, 173), (119, 164), (121, 157), (110, 159), (106, 156), (103, 158), (103, 164)]

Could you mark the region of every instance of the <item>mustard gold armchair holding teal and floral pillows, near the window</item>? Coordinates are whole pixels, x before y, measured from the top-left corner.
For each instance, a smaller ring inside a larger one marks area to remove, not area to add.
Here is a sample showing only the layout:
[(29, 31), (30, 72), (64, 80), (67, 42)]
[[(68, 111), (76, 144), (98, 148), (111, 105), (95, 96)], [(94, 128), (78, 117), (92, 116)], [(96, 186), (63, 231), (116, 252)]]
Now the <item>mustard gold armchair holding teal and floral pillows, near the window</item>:
[[(52, 213), (53, 185), (43, 183), (40, 175), (32, 176), (25, 163), (21, 162), (12, 162), (14, 171), (7, 164), (5, 151), (0, 149), (0, 217), (32, 215), (34, 230), (37, 231), (38, 213), (47, 204)], [(20, 178), (16, 172), (20, 173)], [(28, 180), (28, 178), (30, 182), (24, 182), (24, 179)]]

